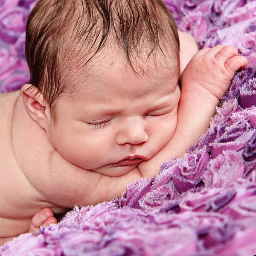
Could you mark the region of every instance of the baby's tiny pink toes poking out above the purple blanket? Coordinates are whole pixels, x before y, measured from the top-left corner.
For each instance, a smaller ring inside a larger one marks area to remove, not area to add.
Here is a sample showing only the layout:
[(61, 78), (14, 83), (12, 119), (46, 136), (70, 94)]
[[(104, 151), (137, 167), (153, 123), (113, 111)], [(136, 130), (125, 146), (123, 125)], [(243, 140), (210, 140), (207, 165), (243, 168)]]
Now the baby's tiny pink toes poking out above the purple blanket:
[(54, 217), (52, 210), (49, 208), (44, 208), (34, 215), (28, 232), (35, 234), (36, 231), (40, 230), (41, 226), (47, 227), (53, 223), (56, 224), (58, 221)]

